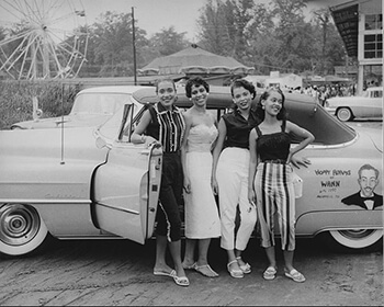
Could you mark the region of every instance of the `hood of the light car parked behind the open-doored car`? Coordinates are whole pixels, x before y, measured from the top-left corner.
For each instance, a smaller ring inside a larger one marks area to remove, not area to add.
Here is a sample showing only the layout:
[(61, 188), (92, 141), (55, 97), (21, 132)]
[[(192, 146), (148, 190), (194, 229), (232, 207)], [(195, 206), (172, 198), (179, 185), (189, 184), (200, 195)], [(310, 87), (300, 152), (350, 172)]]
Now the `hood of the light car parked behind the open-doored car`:
[(36, 121), (25, 121), (15, 123), (11, 126), (11, 129), (46, 129), (46, 128), (57, 128), (61, 127), (61, 123), (66, 128), (71, 127), (94, 127), (103, 124), (106, 120), (111, 117), (110, 114), (76, 114), (66, 115), (60, 117), (43, 118)]

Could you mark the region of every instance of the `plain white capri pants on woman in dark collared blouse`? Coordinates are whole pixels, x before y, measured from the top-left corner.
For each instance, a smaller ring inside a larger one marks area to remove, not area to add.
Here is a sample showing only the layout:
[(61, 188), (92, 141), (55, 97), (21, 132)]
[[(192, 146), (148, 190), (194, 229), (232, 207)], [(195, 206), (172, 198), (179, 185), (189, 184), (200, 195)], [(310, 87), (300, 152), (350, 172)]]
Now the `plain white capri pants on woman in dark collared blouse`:
[[(218, 159), (216, 180), (222, 223), (221, 247), (225, 250), (244, 251), (255, 229), (257, 213), (248, 201), (249, 150), (225, 148)], [(237, 207), (240, 224), (235, 234)]]

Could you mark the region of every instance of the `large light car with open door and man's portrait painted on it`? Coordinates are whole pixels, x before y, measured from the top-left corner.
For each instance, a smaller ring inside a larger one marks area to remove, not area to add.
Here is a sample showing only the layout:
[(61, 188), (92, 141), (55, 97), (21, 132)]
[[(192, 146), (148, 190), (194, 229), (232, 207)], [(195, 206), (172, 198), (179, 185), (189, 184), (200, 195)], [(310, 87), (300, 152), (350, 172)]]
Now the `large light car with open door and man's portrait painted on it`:
[[(178, 105), (189, 107), (184, 90), (178, 92)], [(133, 96), (97, 128), (0, 132), (1, 253), (38, 250), (50, 236), (139, 243), (153, 237), (162, 151), (156, 144), (134, 145), (129, 136), (156, 94), (150, 88)], [(218, 117), (231, 103), (229, 88), (211, 87), (207, 106)], [(342, 202), (359, 191), (363, 164), (382, 171), (381, 132), (354, 130), (306, 95), (286, 94), (286, 107), (290, 120), (316, 137), (300, 152), (312, 164), (296, 170), (304, 180), (296, 202), (297, 237), (326, 234), (339, 246), (358, 250), (381, 245), (382, 204), (369, 209)], [(382, 194), (381, 182), (373, 189)]]

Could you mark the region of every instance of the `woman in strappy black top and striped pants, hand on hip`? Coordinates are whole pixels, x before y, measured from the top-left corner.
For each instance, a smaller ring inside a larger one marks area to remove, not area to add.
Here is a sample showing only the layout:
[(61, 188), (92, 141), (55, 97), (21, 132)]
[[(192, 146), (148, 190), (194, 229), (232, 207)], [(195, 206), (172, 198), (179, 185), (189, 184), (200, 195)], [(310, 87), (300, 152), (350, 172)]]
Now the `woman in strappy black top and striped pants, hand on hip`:
[[(260, 96), (257, 105), (256, 113), (262, 122), (249, 135), (248, 197), (249, 202), (257, 202), (261, 246), (270, 262), (263, 277), (273, 280), (276, 274), (273, 234), (276, 213), (285, 261), (284, 274), (295, 282), (304, 282), (304, 275), (293, 268), (295, 196), (290, 162), (293, 155), (303, 150), (315, 137), (286, 121), (284, 99), (280, 90), (270, 89)], [(291, 147), (290, 133), (303, 138), (295, 147)]]

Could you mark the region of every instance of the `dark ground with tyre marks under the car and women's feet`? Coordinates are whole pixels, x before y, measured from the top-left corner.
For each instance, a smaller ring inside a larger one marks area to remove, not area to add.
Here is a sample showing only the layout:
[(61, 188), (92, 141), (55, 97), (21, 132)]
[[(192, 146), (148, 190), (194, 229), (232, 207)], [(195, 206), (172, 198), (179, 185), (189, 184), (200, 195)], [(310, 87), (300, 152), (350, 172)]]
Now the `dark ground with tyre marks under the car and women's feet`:
[(0, 259), (0, 306), (382, 306), (383, 252), (336, 253), (317, 239), (300, 239), (295, 265), (307, 281), (261, 276), (263, 250), (252, 239), (245, 259), (252, 273), (235, 280), (226, 254), (212, 242), (210, 262), (219, 273), (207, 278), (188, 271), (191, 285), (153, 275), (155, 241), (59, 241), (39, 255)]

